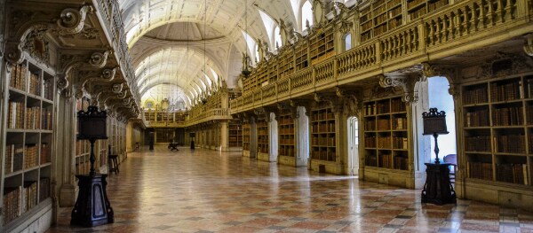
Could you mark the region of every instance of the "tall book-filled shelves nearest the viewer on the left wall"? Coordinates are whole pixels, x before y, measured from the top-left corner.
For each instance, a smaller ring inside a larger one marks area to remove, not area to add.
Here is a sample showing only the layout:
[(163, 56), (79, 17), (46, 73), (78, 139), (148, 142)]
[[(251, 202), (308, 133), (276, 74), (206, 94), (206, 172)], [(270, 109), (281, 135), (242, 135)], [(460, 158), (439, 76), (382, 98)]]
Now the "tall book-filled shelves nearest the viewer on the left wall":
[(8, 102), (3, 109), (7, 119), (3, 126), (4, 174), (0, 175), (4, 190), (2, 230), (18, 226), (18, 219), (52, 203), (54, 76), (48, 68), (28, 60), (8, 66)]

